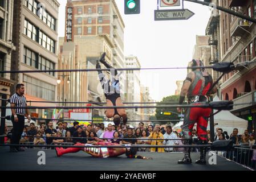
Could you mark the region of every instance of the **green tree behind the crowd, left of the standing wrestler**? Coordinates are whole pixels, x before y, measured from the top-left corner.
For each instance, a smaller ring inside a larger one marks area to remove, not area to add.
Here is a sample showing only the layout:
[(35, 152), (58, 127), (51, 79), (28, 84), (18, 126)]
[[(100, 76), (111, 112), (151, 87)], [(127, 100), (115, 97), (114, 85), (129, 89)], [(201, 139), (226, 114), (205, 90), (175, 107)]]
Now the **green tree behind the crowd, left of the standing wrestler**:
[[(167, 96), (167, 97), (164, 97), (164, 98), (162, 98), (162, 101), (161, 102), (163, 102), (163, 103), (160, 103), (160, 104), (157, 104), (157, 105), (177, 105), (178, 104), (178, 98), (179, 98), (180, 96)], [(168, 103), (164, 103), (164, 102), (177, 102), (176, 104), (175, 103), (173, 103), (173, 104), (168, 104)], [(174, 113), (172, 113), (171, 115), (164, 115), (164, 114), (161, 114), (161, 112), (174, 112)], [(168, 108), (168, 107), (166, 107), (166, 108), (157, 108), (156, 109), (156, 118), (157, 118), (157, 120), (174, 120), (174, 119), (180, 119), (179, 117), (178, 117), (178, 114), (176, 114), (176, 113), (178, 113), (177, 112), (177, 109), (176, 108)], [(166, 124), (166, 123), (168, 123), (168, 122), (161, 122), (161, 124)], [(177, 123), (177, 121), (172, 121), (172, 123)]]

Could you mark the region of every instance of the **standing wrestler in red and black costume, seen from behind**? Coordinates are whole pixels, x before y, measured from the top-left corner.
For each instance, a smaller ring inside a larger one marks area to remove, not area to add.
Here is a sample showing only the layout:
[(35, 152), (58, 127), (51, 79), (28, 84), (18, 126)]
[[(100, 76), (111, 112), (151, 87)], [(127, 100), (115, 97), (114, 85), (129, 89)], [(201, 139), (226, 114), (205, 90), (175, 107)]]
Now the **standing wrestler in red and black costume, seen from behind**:
[[(192, 60), (192, 67), (203, 67), (204, 64), (201, 60)], [(185, 99), (188, 98), (188, 104), (201, 105), (209, 102), (210, 94), (217, 92), (216, 86), (212, 88), (213, 78), (205, 69), (192, 69), (186, 76), (184, 84), (180, 93), (180, 100), (178, 104), (181, 105)], [(177, 108), (181, 111), (181, 108)], [(210, 108), (190, 107), (185, 110), (184, 124), (182, 127), (182, 134), (184, 135), (184, 144), (192, 144), (192, 130), (194, 124), (197, 123), (197, 135), (200, 144), (208, 144), (207, 125), (208, 119), (212, 113)], [(200, 148), (200, 158), (196, 160), (197, 164), (206, 164), (206, 147)], [(186, 147), (184, 151), (184, 158), (178, 161), (178, 164), (190, 164), (190, 148)]]

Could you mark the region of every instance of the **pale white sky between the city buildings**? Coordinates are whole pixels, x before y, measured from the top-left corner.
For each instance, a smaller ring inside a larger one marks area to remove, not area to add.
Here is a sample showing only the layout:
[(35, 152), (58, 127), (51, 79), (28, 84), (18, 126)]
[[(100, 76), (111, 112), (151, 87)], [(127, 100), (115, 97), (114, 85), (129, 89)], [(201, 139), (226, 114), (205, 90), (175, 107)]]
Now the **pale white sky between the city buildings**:
[[(184, 9), (195, 15), (188, 20), (154, 20), (157, 0), (141, 0), (140, 14), (125, 15), (124, 0), (115, 0), (125, 23), (124, 55), (137, 56), (141, 68), (186, 67), (192, 60), (196, 35), (205, 35), (210, 8), (184, 1)], [(59, 36), (64, 36), (67, 0), (58, 0)], [(181, 9), (180, 7), (160, 7)], [(177, 80), (184, 80), (186, 69), (141, 71), (141, 84), (149, 87), (151, 97), (161, 101), (173, 95)]]

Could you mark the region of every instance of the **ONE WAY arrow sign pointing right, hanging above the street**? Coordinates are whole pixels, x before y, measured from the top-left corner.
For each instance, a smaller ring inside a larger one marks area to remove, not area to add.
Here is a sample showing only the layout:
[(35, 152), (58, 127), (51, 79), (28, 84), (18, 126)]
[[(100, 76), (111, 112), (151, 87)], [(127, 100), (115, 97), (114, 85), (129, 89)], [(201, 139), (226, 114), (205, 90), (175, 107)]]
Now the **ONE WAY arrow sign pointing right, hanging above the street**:
[(155, 10), (155, 21), (189, 19), (194, 13), (188, 9)]

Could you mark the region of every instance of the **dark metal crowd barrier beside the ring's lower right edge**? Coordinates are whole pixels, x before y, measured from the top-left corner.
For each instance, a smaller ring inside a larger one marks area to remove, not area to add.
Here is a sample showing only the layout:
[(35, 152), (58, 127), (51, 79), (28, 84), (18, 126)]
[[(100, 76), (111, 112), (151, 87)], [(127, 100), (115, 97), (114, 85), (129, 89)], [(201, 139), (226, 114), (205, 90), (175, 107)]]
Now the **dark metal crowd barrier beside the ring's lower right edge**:
[(256, 171), (256, 149), (250, 146), (234, 147), (233, 151), (226, 151), (222, 156)]

